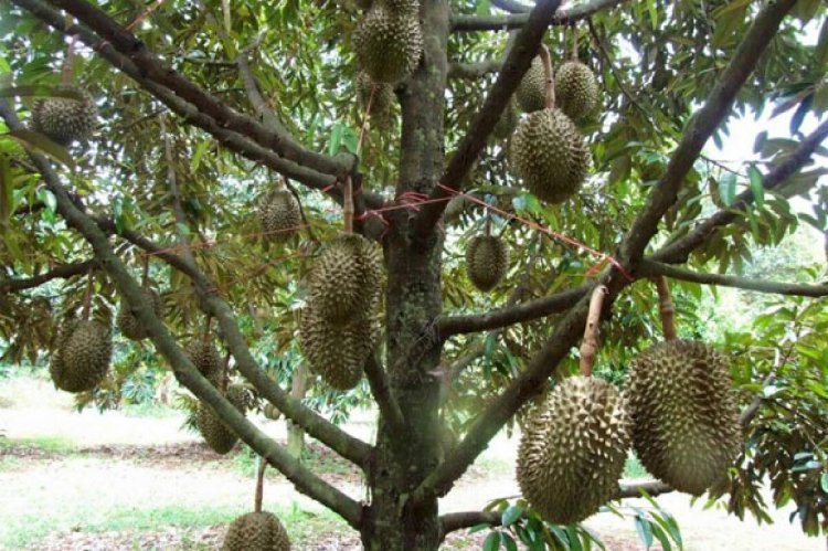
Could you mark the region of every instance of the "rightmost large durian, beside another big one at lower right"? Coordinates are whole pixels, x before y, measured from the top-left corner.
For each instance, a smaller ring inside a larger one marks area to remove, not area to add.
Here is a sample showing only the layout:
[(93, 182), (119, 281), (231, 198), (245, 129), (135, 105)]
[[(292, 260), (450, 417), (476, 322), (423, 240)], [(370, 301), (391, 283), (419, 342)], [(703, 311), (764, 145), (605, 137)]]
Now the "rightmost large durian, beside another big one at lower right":
[(723, 354), (698, 341), (659, 342), (630, 363), (625, 393), (647, 470), (696, 496), (723, 479), (741, 445)]

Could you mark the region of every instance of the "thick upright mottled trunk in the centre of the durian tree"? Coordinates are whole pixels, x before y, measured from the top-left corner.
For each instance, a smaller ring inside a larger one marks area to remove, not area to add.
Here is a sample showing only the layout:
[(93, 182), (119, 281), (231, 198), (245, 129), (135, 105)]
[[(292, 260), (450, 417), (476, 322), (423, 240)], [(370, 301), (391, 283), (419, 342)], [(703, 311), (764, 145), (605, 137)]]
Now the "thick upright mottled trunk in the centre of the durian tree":
[[(400, 93), (403, 134), (397, 197), (428, 193), (443, 171), (448, 6), (421, 3), (424, 52), (420, 68)], [(428, 328), (442, 308), (443, 235), (417, 240), (415, 210), (392, 214), (385, 242), (388, 268), (388, 372), (405, 426), (381, 418), (369, 473), (371, 506), (365, 510), (362, 542), (369, 551), (436, 550), (439, 547), (437, 500), (412, 504), (407, 496), (433, 469), (439, 455), (438, 391), (432, 375), (440, 347)]]

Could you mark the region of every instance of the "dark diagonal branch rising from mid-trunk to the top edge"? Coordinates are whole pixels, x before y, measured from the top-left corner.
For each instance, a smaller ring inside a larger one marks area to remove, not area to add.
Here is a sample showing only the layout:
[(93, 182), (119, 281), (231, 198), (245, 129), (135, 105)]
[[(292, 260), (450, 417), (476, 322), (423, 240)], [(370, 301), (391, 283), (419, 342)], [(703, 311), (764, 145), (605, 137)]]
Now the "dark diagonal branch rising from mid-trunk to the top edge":
[[(555, 10), (560, 4), (561, 0), (539, 0), (529, 14), (527, 23), (514, 38), (514, 43), (506, 56), (495, 85), (486, 96), (484, 105), (469, 126), (468, 133), (460, 141), (438, 183), (455, 190), (461, 189), (463, 180), (480, 151), (486, 147), (489, 135), (500, 119), (509, 98), (518, 88), (521, 77), (532, 63), (535, 53), (538, 53), (543, 34), (554, 19)], [(452, 193), (440, 186), (434, 188), (428, 198), (434, 202), (423, 204), (417, 215), (416, 232), (420, 236), (425, 236), (434, 231), (450, 195)]]

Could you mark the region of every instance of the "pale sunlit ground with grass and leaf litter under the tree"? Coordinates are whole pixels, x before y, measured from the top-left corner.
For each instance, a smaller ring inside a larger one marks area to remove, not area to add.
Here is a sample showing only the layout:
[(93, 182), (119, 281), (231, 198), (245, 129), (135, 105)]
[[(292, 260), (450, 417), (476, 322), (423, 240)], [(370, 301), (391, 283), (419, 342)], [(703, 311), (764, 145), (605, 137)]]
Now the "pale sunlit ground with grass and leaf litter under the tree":
[[(256, 418), (276, 438), (284, 422)], [(220, 547), (226, 522), (252, 505), (246, 456), (219, 456), (180, 428), (182, 417), (99, 414), (72, 410), (72, 398), (47, 381), (0, 380), (0, 548), (36, 550), (206, 550)], [(370, 438), (371, 420), (347, 428)], [(311, 443), (323, 478), (362, 499), (360, 473)], [(479, 509), (516, 496), (516, 439), (499, 436), (440, 502), (443, 511)], [(688, 550), (816, 551), (825, 541), (806, 538), (778, 511), (757, 526), (722, 510), (702, 510), (683, 495), (661, 506), (676, 516)], [(648, 508), (643, 500), (625, 507)], [(286, 520), (299, 550), (360, 549), (357, 534), (318, 504), (270, 471), (265, 508)], [(586, 526), (609, 550), (641, 549), (630, 519), (598, 513)], [(486, 533), (457, 533), (446, 549), (480, 549)], [(660, 549), (654, 547), (652, 549)]]

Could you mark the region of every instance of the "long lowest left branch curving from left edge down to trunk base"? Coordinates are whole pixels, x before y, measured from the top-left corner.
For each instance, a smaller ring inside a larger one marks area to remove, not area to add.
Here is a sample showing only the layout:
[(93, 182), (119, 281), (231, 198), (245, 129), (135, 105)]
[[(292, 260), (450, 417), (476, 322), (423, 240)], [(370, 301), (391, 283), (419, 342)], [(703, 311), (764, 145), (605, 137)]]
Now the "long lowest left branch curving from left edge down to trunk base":
[[(14, 113), (4, 100), (0, 100), (0, 115), (10, 128), (20, 128)], [(95, 221), (81, 211), (70, 199), (57, 174), (41, 155), (30, 152), (49, 190), (55, 195), (57, 211), (66, 223), (77, 230), (95, 251), (95, 257), (109, 275), (120, 295), (127, 300), (138, 320), (147, 328), (150, 339), (159, 352), (170, 362), (176, 377), (200, 400), (206, 403), (238, 436), (257, 454), (278, 468), (294, 484), (297, 490), (306, 494), (339, 513), (350, 526), (359, 529), (362, 507), (333, 486), (329, 485), (310, 469), (304, 467), (282, 446), (269, 438), (233, 406), (190, 362), (184, 351), (177, 345), (163, 321), (155, 314), (145, 299), (140, 284), (129, 275), (127, 267), (115, 254), (106, 234)]]

